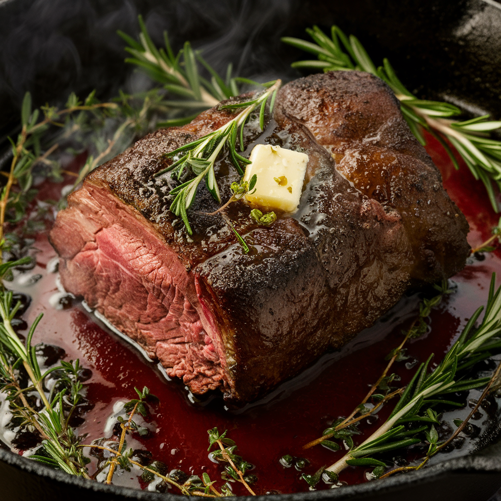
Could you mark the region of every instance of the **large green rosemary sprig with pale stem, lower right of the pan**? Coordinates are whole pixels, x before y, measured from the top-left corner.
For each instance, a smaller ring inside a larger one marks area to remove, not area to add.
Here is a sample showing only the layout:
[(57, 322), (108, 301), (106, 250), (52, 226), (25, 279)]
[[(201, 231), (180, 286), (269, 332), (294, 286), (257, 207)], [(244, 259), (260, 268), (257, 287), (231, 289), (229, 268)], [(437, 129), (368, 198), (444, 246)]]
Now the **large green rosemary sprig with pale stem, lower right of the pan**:
[[(401, 448), (420, 441), (412, 435), (416, 429), (407, 429), (412, 422), (437, 422), (437, 415), (431, 406), (437, 402), (437, 396), (444, 396), (457, 391), (480, 388), (493, 378), (479, 378), (475, 380), (463, 379), (461, 371), (474, 365), (479, 360), (487, 358), (490, 350), (501, 347), (501, 287), (495, 290), (495, 274), (492, 274), (489, 295), (485, 307), (484, 318), (477, 329), (474, 324), (480, 313), (480, 307), (470, 318), (457, 341), (446, 353), (440, 364), (430, 373), (428, 366), (433, 354), (425, 363), (422, 363), (411, 382), (405, 387), (400, 400), (393, 409), (390, 417), (369, 438), (360, 445), (352, 448), (340, 460), (326, 470), (339, 474), (353, 460), (367, 458), (373, 454)], [(434, 398), (433, 398), (434, 397)], [(424, 415), (420, 414), (424, 411)], [(438, 435), (432, 424), (428, 432), (430, 450), (428, 455), (438, 451)]]

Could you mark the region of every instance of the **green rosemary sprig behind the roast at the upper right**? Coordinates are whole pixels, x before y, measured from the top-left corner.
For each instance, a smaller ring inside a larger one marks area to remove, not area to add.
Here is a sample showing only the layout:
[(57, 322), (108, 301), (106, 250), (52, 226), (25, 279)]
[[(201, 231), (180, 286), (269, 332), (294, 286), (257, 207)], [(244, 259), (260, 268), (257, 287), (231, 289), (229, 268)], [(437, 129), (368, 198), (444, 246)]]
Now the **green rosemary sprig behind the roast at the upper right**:
[(458, 169), (456, 157), (446, 140), (449, 141), (475, 179), (483, 182), (493, 209), (499, 212), (493, 185), (501, 190), (501, 141), (490, 138), (488, 133), (499, 129), (501, 121), (488, 120), (488, 115), (465, 121), (451, 120), (448, 117), (461, 114), (459, 108), (445, 102), (417, 99), (403, 86), (387, 59), (383, 60), (382, 66), (376, 68), (355, 36), (347, 37), (337, 26), (331, 28), (331, 37), (317, 26), (306, 31), (315, 43), (292, 37), (282, 38), (286, 44), (315, 54), (318, 58), (293, 63), (294, 68), (324, 72), (359, 70), (384, 80), (400, 101), (402, 114), (418, 141), (422, 145), (426, 144), (423, 129), (431, 133)]

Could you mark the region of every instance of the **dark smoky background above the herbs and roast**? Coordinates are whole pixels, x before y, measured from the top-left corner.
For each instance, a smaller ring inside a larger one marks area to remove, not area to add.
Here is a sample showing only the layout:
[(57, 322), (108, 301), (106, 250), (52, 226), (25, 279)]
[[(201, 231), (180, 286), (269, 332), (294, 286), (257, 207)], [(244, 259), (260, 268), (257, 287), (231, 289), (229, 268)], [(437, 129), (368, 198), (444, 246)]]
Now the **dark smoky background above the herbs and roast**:
[(338, 24), (376, 64), (388, 57), (419, 97), (501, 114), (501, 33), (492, 36), (501, 10), (482, 0), (0, 0), (0, 148), (28, 90), (40, 106), (71, 91), (95, 88), (108, 99), (119, 88), (144, 89), (116, 35), (136, 36), (138, 14), (158, 45), (167, 30), (174, 50), (190, 40), (217, 70), (231, 62), (239, 76), (262, 79), (300, 76), (289, 65), (304, 54), (281, 36), (306, 38), (308, 26)]

